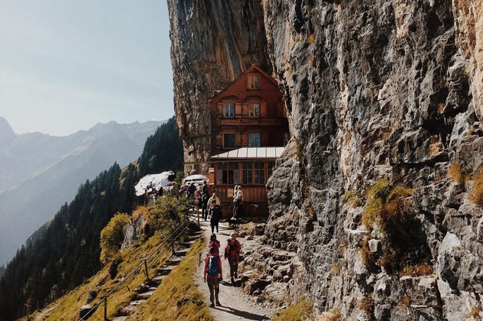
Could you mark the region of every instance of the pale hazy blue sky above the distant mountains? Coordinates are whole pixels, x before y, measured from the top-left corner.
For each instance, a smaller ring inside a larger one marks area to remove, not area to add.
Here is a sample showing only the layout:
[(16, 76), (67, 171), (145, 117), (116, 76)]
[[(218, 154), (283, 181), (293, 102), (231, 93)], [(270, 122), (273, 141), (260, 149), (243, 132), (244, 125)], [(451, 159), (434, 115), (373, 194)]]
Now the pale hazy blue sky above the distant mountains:
[(173, 114), (166, 0), (0, 0), (0, 116), (16, 133)]

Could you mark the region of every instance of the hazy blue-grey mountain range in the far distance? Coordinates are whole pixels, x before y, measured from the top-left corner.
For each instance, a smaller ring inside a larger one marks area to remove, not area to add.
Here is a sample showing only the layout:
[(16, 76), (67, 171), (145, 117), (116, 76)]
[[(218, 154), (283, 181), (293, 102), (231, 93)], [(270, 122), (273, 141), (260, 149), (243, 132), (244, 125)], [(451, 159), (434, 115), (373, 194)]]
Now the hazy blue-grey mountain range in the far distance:
[(17, 135), (0, 117), (0, 265), (74, 198), (81, 183), (114, 162), (122, 167), (136, 160), (161, 123), (111, 121), (56, 137)]

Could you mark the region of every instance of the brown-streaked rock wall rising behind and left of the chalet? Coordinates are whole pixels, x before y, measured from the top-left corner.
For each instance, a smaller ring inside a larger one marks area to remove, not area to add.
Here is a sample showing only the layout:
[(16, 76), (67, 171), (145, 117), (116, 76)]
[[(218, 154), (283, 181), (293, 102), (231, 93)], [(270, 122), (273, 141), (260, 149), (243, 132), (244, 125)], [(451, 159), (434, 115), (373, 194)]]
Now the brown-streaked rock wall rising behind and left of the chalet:
[[(272, 72), (260, 1), (168, 0), (175, 117), (185, 173), (205, 174), (209, 97), (253, 63)], [(192, 164), (190, 164), (192, 163)]]

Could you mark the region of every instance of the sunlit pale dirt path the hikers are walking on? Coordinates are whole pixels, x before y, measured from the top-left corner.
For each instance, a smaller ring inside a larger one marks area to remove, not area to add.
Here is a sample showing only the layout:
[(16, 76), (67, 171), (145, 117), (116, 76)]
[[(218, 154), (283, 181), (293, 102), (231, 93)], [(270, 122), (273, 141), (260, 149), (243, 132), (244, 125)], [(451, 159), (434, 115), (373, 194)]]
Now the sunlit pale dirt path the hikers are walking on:
[[(201, 222), (202, 229), (204, 230), (204, 236), (206, 240), (209, 240), (211, 235), (211, 227), (209, 222)], [(228, 228), (228, 224), (220, 222), (219, 233), (216, 233), (216, 237), (221, 243), (220, 255), (223, 253), (226, 240), (230, 237), (233, 229)], [(216, 231), (215, 231), (216, 232)], [(242, 245), (243, 251), (243, 239), (238, 239)], [(206, 244), (206, 252), (208, 246)], [(223, 255), (221, 255), (223, 256)], [(199, 289), (203, 292), (206, 299), (206, 303), (209, 304), (209, 290), (206, 283), (203, 281), (203, 269), (204, 269), (204, 254), (202, 255), (202, 261), (199, 264), (198, 272), (195, 280), (199, 285)], [(222, 306), (216, 306), (211, 308), (211, 314), (214, 315), (216, 320), (219, 321), (231, 321), (231, 320), (270, 320), (270, 315), (274, 313), (273, 310), (255, 303), (252, 297), (243, 293), (237, 286), (231, 286), (230, 284), (230, 267), (228, 266), (228, 260), (222, 258), (223, 268), (223, 281), (220, 285), (219, 299)], [(239, 284), (240, 280), (238, 280)]]

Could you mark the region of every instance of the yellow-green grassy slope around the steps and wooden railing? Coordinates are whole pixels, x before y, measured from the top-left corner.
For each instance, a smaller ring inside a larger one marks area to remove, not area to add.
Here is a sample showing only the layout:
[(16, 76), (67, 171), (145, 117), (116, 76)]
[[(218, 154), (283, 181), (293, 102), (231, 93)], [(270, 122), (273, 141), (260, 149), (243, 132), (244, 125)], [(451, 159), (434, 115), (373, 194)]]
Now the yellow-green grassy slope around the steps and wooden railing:
[[(91, 305), (94, 305), (100, 298), (113, 289), (121, 281), (122, 277), (135, 269), (142, 258), (149, 255), (160, 242), (161, 237), (155, 235), (145, 243), (139, 242), (134, 244), (134, 246), (122, 253), (122, 263), (118, 267), (118, 273), (115, 279), (110, 279), (108, 273), (109, 267), (104, 267), (82, 286), (79, 286), (74, 291), (67, 293), (66, 296), (59, 298), (59, 300), (49, 305), (45, 310), (53, 309), (45, 313), (45, 315), (42, 315), (40, 320), (78, 320), (79, 309), (82, 305), (86, 304), (86, 298), (91, 290), (96, 289), (98, 291), (97, 298), (91, 303)], [(168, 320), (165, 315), (170, 317), (176, 315), (177, 318), (172, 320), (214, 320), (209, 315), (209, 309), (206, 304), (202, 303), (202, 293), (199, 292), (192, 280), (192, 275), (196, 272), (196, 260), (202, 248), (201, 241), (194, 243), (192, 250), (190, 250), (187, 258), (182, 261), (180, 267), (175, 269), (169, 277), (163, 280), (161, 287), (148, 302), (139, 305), (135, 317), (130, 320)], [(161, 265), (161, 261), (164, 259), (162, 257), (158, 260), (155, 266)], [(153, 274), (154, 272), (151, 269), (151, 277)], [(117, 315), (117, 311), (129, 303), (133, 293), (132, 291), (143, 281), (145, 281), (144, 274), (142, 272), (136, 273), (116, 293), (112, 294), (108, 298), (107, 317), (112, 318)], [(189, 300), (183, 301), (184, 298), (189, 298)], [(199, 302), (202, 304), (199, 305)], [(25, 317), (23, 320), (35, 320), (37, 315), (39, 313)], [(104, 320), (103, 305), (100, 305), (89, 320)]]

